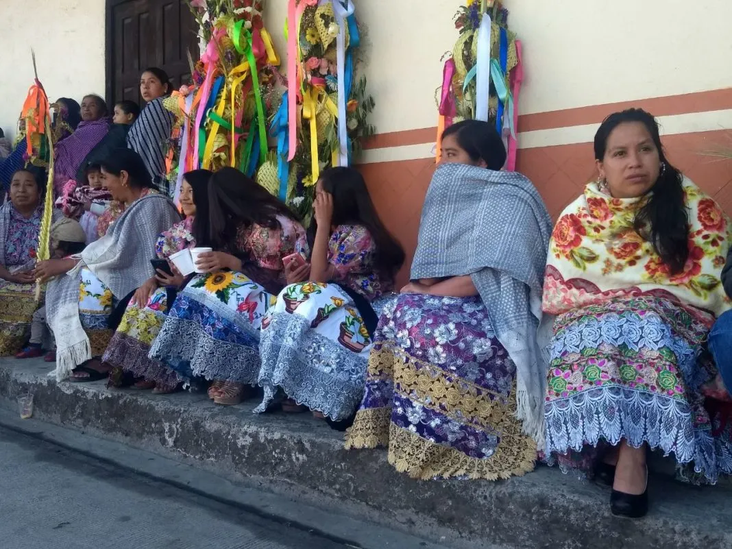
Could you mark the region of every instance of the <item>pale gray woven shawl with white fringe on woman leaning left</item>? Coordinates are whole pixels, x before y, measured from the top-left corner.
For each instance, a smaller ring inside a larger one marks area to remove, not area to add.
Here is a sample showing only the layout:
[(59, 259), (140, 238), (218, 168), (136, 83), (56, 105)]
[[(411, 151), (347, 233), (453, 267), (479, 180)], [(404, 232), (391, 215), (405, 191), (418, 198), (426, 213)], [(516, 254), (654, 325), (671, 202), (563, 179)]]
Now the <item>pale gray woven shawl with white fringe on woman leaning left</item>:
[(108, 233), (81, 253), (81, 261), (48, 283), (46, 312), (56, 337), (58, 381), (75, 367), (91, 359), (89, 337), (79, 319), (79, 272), (89, 269), (117, 299), (139, 288), (153, 275), (150, 260), (155, 257), (157, 236), (180, 221), (173, 202), (160, 194), (149, 194), (130, 204)]

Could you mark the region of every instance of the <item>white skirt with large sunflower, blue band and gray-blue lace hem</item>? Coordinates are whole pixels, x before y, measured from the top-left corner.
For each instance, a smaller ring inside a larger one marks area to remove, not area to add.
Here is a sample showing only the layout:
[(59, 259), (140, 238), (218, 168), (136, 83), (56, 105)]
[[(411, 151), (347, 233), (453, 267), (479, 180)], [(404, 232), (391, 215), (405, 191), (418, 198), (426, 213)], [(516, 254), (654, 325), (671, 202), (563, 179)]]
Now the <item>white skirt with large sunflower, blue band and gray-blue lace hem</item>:
[(275, 299), (240, 272), (197, 275), (171, 305), (149, 356), (184, 383), (201, 376), (254, 385), (259, 329)]

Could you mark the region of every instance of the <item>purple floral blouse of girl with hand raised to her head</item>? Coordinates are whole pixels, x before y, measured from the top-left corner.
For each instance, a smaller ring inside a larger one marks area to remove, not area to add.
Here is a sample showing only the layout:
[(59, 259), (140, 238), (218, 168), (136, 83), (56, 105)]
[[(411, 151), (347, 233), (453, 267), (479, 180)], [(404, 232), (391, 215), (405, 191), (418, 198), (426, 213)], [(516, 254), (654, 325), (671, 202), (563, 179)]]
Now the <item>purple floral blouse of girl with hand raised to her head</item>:
[(361, 294), (370, 302), (392, 291), (394, 280), (381, 277), (374, 266), (376, 243), (362, 225), (338, 225), (328, 244), (328, 263), (333, 280)]

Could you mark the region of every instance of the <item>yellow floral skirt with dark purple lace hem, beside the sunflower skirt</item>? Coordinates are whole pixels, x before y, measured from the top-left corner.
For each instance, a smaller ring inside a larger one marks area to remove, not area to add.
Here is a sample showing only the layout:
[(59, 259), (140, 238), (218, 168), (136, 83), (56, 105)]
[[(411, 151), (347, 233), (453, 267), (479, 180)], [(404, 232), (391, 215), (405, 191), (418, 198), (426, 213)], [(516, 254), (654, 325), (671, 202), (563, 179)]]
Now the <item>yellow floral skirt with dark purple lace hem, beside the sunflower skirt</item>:
[(152, 342), (160, 333), (167, 313), (168, 293), (165, 288), (157, 288), (145, 307), (130, 302), (102, 360), (135, 378), (154, 381), (164, 387), (176, 386), (176, 373), (149, 358)]

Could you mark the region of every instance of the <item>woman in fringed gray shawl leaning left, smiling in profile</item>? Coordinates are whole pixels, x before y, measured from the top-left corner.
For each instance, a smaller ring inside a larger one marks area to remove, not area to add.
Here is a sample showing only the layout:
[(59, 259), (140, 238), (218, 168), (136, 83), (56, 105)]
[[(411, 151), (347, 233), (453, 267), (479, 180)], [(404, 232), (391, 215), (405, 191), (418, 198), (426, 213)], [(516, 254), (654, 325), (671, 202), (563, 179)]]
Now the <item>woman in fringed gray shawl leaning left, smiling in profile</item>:
[(153, 274), (157, 236), (180, 221), (173, 202), (157, 193), (145, 163), (131, 149), (116, 149), (102, 163), (102, 181), (124, 214), (107, 234), (81, 255), (42, 261), (36, 273), (53, 279), (46, 291), (48, 325), (56, 337), (56, 370), (61, 381), (94, 381), (109, 368), (101, 356), (112, 335), (112, 309)]

